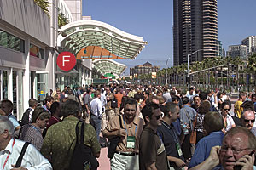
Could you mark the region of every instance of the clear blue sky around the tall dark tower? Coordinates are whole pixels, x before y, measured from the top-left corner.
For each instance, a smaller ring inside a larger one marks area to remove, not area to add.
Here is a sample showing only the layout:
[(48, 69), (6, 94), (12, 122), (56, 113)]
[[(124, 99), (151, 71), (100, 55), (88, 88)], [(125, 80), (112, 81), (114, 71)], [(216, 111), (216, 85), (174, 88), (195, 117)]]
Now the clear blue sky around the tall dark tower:
[[(147, 61), (161, 68), (173, 65), (173, 0), (83, 0), (83, 15), (91, 16), (148, 42), (136, 59), (116, 59), (128, 69)], [(218, 40), (230, 45), (256, 35), (256, 0), (218, 0)], [(168, 59), (170, 58), (170, 59)]]

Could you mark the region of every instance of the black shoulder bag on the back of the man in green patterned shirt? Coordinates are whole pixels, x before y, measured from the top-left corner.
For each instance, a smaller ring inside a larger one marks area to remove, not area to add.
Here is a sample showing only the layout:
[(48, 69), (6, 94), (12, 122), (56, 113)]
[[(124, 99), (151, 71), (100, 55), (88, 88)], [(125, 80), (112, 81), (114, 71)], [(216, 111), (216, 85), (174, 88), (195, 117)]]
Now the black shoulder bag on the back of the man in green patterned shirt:
[(81, 125), (80, 142), (79, 142), (79, 122), (76, 125), (76, 145), (73, 150), (73, 156), (69, 165), (70, 170), (96, 170), (99, 162), (92, 155), (89, 146), (84, 144), (84, 122)]

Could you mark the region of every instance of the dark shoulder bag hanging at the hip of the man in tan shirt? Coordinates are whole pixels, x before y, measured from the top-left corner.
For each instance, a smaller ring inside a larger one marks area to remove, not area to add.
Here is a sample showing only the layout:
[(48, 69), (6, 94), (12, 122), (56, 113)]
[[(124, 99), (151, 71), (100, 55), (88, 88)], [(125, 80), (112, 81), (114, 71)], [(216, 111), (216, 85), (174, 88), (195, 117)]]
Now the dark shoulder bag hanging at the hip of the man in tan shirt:
[[(119, 115), (119, 122), (120, 122), (120, 127), (122, 128), (123, 127), (123, 123), (122, 123), (122, 120), (121, 120), (121, 115)], [(110, 158), (110, 159), (113, 158), (114, 152), (116, 150), (117, 145), (119, 144), (120, 139), (121, 139), (121, 137), (119, 137), (119, 136), (116, 136), (116, 137), (114, 137), (112, 139), (108, 139), (108, 143), (107, 143), (107, 146), (108, 146), (108, 158)]]

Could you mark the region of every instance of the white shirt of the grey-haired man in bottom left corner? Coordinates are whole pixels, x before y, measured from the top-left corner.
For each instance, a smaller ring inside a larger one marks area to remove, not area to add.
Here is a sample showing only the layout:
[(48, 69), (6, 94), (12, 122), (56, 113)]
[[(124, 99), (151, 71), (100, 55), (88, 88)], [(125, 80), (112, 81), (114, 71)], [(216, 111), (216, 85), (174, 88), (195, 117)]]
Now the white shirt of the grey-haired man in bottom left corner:
[[(24, 141), (15, 139), (10, 139), (9, 144), (6, 146), (6, 148), (2, 151), (0, 151), (0, 169), (3, 169), (4, 162), (6, 161), (8, 155), (9, 158), (5, 164), (4, 170), (9, 170), (14, 167), (11, 167), (11, 165), (15, 165), (16, 161), (18, 160), (18, 157), (20, 156), (20, 151), (25, 144)], [(10, 153), (10, 154), (9, 154)], [(44, 158), (44, 156), (41, 155), (41, 153), (32, 145), (29, 144), (25, 155), (23, 156), (23, 159), (21, 161), (21, 167), (25, 167), (28, 170), (51, 170), (52, 167), (49, 163), (49, 161)]]

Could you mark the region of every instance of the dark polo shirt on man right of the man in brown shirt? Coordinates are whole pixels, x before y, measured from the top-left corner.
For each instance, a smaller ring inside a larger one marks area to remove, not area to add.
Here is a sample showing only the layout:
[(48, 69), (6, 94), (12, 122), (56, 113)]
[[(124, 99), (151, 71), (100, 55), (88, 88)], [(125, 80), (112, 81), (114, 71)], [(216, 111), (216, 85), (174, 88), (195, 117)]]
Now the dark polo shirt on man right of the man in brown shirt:
[[(160, 127), (157, 127), (157, 133), (158, 133), (158, 135), (160, 135), (160, 139), (162, 139), (162, 142), (165, 145), (166, 155), (177, 157), (184, 161), (183, 155), (178, 156), (178, 153), (177, 153), (176, 144), (180, 143), (180, 141), (177, 137), (177, 132), (176, 132), (175, 128), (173, 127), (172, 123), (170, 126), (170, 125), (166, 124), (166, 122), (162, 121), (162, 125)], [(177, 167), (176, 164), (172, 161), (170, 161), (170, 166)]]

